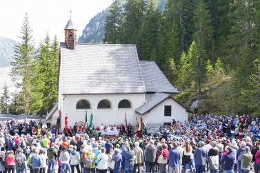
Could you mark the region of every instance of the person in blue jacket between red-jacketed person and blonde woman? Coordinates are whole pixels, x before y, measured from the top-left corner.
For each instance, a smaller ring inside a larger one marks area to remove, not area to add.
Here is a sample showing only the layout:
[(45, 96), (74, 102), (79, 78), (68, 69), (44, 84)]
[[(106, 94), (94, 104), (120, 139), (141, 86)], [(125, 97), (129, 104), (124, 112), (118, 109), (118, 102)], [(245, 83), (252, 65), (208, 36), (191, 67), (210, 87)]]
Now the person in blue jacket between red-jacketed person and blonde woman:
[(179, 165), (181, 160), (181, 154), (177, 150), (178, 143), (173, 143), (173, 148), (170, 150), (168, 156), (169, 173), (179, 173)]

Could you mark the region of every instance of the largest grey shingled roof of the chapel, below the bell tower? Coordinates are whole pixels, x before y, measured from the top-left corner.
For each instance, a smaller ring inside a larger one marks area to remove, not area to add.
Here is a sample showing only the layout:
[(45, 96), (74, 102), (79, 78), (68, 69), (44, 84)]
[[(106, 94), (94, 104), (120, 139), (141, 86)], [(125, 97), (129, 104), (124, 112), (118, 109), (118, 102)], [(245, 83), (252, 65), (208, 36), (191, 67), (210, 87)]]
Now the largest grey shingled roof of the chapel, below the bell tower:
[(146, 92), (135, 45), (61, 43), (61, 94)]

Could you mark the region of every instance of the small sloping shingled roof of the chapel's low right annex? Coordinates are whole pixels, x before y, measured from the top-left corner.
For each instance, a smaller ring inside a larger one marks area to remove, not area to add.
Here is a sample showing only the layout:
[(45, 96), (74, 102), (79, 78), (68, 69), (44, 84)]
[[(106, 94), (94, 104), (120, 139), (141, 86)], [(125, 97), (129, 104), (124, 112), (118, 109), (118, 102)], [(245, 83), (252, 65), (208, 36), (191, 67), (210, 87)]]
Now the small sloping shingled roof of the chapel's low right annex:
[(137, 108), (135, 110), (135, 112), (137, 112), (137, 114), (147, 114), (150, 110), (152, 110), (153, 108), (155, 108), (157, 105), (159, 105), (161, 102), (165, 101), (166, 99), (170, 98), (170, 94), (164, 94), (161, 92), (156, 92), (155, 94), (153, 94), (152, 98), (150, 98), (150, 94), (148, 97), (148, 101), (146, 101), (146, 103), (144, 103), (143, 105), (141, 105), (139, 108)]

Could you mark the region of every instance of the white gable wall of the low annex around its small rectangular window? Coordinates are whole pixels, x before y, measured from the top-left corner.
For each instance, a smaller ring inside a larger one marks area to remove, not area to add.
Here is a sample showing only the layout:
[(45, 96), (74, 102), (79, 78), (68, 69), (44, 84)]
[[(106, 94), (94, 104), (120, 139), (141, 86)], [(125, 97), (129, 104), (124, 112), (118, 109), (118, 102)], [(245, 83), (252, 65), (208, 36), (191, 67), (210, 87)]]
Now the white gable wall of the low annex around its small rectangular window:
[[(172, 105), (172, 116), (164, 116), (164, 106)], [(172, 119), (176, 121), (188, 121), (188, 112), (179, 103), (173, 99), (167, 99), (156, 108), (152, 109), (148, 114), (143, 116), (143, 123), (147, 127), (163, 125), (163, 123), (170, 123)]]

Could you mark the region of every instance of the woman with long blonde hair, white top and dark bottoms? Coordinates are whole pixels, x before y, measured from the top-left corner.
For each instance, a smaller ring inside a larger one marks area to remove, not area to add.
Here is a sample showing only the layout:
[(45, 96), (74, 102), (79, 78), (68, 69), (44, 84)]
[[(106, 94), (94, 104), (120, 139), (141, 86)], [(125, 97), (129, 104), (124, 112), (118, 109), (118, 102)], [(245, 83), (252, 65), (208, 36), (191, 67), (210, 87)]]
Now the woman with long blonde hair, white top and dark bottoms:
[(186, 142), (183, 145), (183, 157), (182, 157), (182, 165), (183, 165), (183, 172), (186, 172), (186, 165), (190, 166), (190, 172), (193, 173), (192, 170), (192, 159), (193, 159), (193, 153), (192, 153), (192, 147), (190, 146), (189, 142)]

